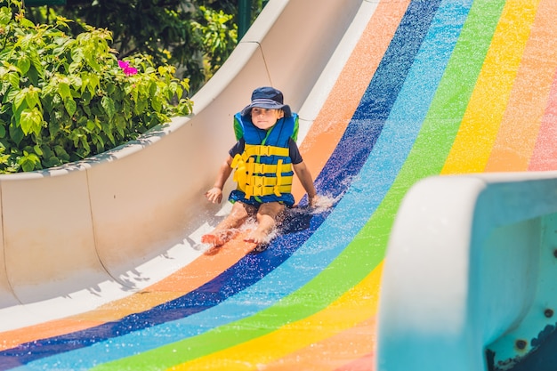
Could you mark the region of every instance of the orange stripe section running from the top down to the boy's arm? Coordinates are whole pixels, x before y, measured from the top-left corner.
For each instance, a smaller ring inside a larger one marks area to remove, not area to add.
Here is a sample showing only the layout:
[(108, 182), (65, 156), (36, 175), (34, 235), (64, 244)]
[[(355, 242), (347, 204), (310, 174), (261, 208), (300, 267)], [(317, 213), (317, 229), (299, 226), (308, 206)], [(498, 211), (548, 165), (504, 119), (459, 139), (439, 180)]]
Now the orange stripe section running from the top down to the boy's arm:
[[(303, 162), (314, 176), (321, 172), (341, 140), (409, 3), (410, 0), (382, 1), (359, 37), (358, 44), (331, 90), (332, 93), (311, 125), (311, 132), (300, 146)], [(295, 199), (300, 199), (305, 193), (297, 178), (292, 193)]]

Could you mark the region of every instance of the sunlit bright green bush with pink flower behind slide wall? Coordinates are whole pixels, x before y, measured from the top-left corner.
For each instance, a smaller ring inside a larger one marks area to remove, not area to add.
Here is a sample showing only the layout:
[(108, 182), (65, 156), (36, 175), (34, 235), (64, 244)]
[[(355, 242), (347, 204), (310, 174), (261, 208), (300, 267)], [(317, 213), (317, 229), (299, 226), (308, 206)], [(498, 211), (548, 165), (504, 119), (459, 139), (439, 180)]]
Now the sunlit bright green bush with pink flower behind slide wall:
[(118, 60), (108, 30), (71, 37), (69, 21), (34, 24), (20, 1), (0, 1), (0, 173), (91, 157), (190, 113), (174, 67)]

